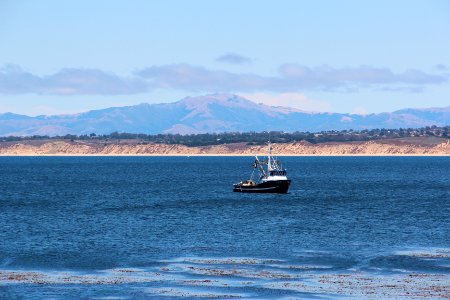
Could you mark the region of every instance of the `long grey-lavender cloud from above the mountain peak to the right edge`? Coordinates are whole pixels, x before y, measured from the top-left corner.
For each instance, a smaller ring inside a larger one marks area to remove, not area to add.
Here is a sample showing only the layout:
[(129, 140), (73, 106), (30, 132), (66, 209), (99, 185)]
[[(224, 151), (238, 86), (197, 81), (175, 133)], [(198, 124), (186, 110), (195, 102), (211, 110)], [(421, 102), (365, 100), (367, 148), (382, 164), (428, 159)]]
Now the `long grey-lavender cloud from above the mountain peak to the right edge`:
[(216, 92), (300, 92), (303, 90), (349, 91), (358, 88), (391, 88), (419, 91), (418, 87), (442, 84), (447, 78), (419, 70), (394, 73), (386, 68), (309, 68), (297, 64), (280, 66), (277, 76), (240, 74), (208, 70), (188, 64), (152, 66), (136, 75), (154, 88), (172, 88)]

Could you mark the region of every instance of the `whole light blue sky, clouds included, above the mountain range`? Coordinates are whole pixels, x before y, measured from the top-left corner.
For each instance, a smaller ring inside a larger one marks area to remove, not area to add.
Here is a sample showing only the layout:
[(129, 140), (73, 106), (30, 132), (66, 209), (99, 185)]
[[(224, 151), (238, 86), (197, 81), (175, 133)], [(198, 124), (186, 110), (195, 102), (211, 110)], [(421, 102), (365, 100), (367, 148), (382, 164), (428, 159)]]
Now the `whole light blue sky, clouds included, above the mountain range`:
[(450, 105), (450, 1), (0, 1), (0, 113), (227, 92), (304, 110)]

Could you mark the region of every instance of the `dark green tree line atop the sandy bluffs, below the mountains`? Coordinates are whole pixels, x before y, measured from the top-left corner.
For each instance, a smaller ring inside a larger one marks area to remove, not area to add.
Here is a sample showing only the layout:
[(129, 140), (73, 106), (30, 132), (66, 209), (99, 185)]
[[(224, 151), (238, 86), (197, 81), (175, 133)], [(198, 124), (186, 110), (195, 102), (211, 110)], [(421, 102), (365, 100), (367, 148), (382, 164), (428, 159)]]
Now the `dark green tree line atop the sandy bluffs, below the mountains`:
[(247, 143), (248, 145), (264, 145), (270, 139), (272, 143), (293, 143), (307, 141), (310, 143), (326, 142), (353, 142), (373, 141), (382, 139), (395, 139), (407, 137), (440, 137), (450, 138), (450, 126), (437, 127), (427, 126), (423, 128), (400, 128), (400, 129), (365, 129), (365, 130), (331, 130), (321, 132), (224, 132), (224, 133), (202, 133), (202, 134), (143, 134), (143, 133), (119, 133), (97, 135), (71, 135), (64, 136), (28, 136), (2, 137), (2, 142), (27, 141), (27, 140), (98, 140), (119, 141), (139, 140), (141, 143), (181, 144), (185, 146), (209, 146), (232, 143)]

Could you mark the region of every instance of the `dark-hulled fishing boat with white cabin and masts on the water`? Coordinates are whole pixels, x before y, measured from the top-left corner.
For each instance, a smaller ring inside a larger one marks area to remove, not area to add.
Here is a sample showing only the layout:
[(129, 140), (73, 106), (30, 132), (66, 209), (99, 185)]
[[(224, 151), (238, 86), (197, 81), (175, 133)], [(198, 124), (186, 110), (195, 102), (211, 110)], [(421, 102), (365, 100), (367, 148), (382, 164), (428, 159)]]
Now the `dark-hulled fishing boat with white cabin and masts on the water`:
[(287, 179), (286, 169), (283, 169), (281, 162), (272, 156), (272, 147), (269, 143), (267, 160), (261, 161), (255, 156), (250, 179), (234, 184), (233, 192), (284, 194), (288, 192), (290, 184), (291, 180)]

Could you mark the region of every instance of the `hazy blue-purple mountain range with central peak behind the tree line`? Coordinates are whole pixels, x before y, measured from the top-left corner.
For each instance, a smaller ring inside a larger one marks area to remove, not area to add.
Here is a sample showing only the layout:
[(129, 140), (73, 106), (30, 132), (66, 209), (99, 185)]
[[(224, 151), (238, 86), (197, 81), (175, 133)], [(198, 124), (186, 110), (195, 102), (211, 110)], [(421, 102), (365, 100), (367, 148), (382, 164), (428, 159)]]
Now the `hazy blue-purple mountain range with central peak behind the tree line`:
[(418, 128), (450, 125), (450, 106), (368, 115), (306, 112), (258, 104), (231, 94), (187, 97), (72, 115), (0, 114), (0, 136), (128, 133), (205, 133)]

